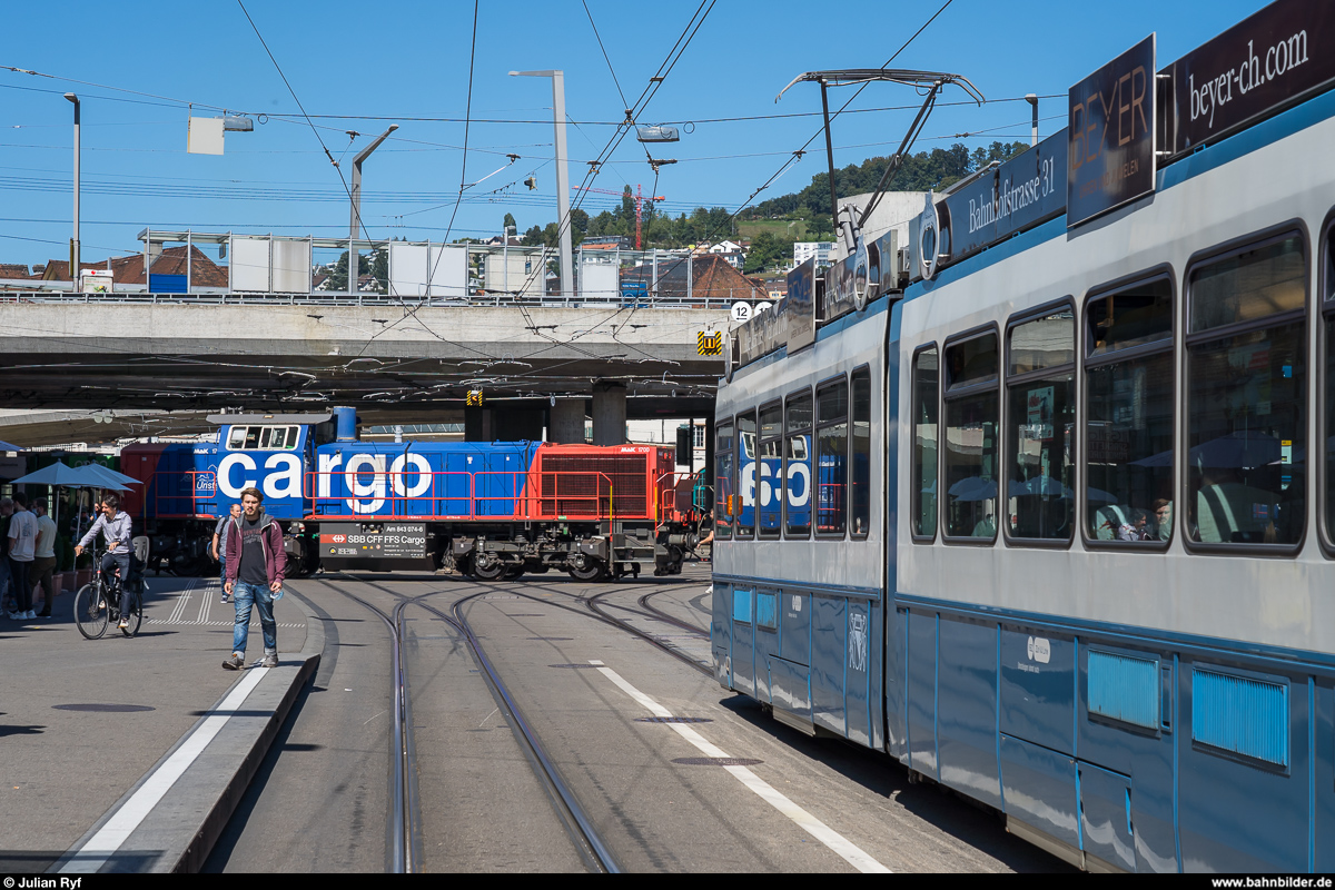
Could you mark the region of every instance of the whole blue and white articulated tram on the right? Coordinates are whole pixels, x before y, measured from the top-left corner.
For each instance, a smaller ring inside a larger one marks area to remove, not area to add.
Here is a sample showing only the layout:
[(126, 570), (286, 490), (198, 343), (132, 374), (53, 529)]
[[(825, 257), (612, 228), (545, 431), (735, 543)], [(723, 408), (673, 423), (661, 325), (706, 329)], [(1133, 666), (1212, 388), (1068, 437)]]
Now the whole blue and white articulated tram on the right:
[(724, 687), (1089, 870), (1335, 869), (1326, 40), (1298, 0), (1167, 67), (1149, 40), (738, 330)]

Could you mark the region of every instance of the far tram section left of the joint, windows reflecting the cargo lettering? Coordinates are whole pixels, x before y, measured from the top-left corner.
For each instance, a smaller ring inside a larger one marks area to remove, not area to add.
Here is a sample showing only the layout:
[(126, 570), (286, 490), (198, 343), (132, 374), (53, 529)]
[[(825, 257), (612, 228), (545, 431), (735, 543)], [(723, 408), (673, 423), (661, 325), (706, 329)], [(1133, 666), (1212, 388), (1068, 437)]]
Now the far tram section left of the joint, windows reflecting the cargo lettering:
[(886, 447), (888, 304), (849, 315), (814, 348), (742, 368), (716, 420), (720, 526), (732, 527), (714, 563), (716, 677), (785, 723), (870, 747), (885, 745), (886, 476), (876, 455)]

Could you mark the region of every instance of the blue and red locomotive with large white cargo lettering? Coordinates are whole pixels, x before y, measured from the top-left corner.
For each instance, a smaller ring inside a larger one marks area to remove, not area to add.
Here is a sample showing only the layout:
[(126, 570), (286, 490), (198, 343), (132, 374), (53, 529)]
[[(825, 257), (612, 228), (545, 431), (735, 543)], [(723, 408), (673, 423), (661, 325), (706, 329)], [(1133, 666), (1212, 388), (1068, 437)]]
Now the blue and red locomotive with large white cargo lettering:
[(643, 563), (677, 574), (708, 530), (690, 479), (655, 446), (358, 442), (351, 408), (212, 420), (216, 444), (121, 454), (148, 483), (125, 507), (179, 571), (208, 567), (214, 523), (248, 487), (284, 524), (294, 574), (555, 570), (590, 580), (638, 574)]

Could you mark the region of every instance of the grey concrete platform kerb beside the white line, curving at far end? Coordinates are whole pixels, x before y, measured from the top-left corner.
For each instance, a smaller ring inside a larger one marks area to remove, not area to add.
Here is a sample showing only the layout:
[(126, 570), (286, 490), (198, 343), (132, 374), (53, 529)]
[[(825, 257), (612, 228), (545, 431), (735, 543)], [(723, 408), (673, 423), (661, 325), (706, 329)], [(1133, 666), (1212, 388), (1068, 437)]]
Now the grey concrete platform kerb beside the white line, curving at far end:
[[(172, 789), (143, 819), (121, 845), (120, 851), (103, 871), (194, 873), (212, 853), (236, 805), (246, 794), (255, 771), (291, 711), (302, 687), (315, 678), (324, 650), (324, 624), (298, 596), (291, 600), (306, 615), (306, 644), (291, 663), (270, 669), (246, 699), (276, 698), (263, 717), (232, 717), (222, 733), (176, 781)], [(279, 640), (282, 644), (282, 640)], [(240, 678), (246, 673), (239, 674)], [(235, 686), (235, 685), (234, 685)], [(59, 873), (75, 859), (79, 850), (97, 834), (129, 798), (166, 763), (178, 749), (220, 709), (231, 694), (228, 687), (219, 699), (116, 801), (48, 870)], [(144, 843), (144, 841), (155, 841)]]

